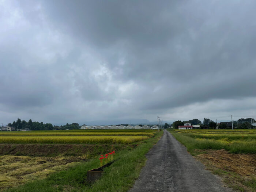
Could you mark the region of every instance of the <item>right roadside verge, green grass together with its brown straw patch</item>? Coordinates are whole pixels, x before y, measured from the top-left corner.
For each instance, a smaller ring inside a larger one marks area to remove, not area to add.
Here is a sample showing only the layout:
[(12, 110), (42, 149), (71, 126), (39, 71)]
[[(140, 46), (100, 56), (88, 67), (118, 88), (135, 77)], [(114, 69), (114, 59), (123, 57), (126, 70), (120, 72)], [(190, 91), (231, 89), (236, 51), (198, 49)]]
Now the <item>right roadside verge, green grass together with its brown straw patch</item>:
[(228, 187), (242, 192), (256, 192), (255, 146), (233, 145), (211, 139), (196, 139), (169, 130), (196, 159), (213, 174), (222, 177)]

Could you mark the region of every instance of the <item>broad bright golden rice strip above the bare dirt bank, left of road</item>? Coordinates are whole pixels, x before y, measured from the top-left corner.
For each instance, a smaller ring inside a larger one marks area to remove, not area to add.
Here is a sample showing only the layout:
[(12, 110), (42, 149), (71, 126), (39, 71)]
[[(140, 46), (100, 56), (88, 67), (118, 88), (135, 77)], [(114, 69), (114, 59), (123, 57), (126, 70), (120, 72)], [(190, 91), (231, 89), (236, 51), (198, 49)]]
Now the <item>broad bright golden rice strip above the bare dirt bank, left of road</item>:
[(0, 136), (0, 143), (128, 144), (145, 139), (148, 136)]

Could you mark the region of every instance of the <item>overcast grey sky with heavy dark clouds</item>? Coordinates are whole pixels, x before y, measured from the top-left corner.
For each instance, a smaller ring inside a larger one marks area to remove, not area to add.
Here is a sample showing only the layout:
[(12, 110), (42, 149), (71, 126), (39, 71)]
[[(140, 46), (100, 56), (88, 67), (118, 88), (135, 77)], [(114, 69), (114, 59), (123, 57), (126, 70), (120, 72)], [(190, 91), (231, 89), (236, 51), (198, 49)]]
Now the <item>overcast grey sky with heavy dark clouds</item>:
[(255, 115), (255, 10), (255, 0), (0, 0), (0, 123)]

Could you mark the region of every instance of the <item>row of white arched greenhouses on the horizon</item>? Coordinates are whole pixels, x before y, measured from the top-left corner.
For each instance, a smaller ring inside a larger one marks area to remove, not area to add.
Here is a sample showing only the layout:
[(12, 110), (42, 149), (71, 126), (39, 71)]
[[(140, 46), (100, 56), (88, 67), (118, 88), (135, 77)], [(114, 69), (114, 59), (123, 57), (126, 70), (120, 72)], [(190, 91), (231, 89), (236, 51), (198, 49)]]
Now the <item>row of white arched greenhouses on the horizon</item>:
[(124, 126), (124, 125), (120, 125), (120, 126), (117, 126), (117, 125), (112, 125), (112, 126), (108, 126), (108, 125), (105, 125), (105, 126), (82, 125), (80, 129), (158, 129), (158, 126), (154, 125), (153, 127), (149, 127), (147, 125), (143, 125), (141, 127), (139, 125), (135, 125), (135, 126), (132, 126), (132, 125), (128, 125), (128, 126)]

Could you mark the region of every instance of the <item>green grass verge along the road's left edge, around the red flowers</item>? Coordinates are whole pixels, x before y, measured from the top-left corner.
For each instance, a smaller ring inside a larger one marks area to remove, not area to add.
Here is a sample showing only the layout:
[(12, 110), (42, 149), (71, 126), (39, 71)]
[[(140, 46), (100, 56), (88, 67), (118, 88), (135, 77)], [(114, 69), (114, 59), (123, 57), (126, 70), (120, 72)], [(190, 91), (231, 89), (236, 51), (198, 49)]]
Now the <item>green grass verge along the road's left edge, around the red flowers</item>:
[(102, 178), (93, 184), (86, 181), (87, 171), (97, 168), (99, 160), (93, 159), (68, 170), (50, 174), (42, 180), (35, 180), (25, 185), (9, 188), (5, 191), (127, 191), (138, 178), (140, 169), (146, 162), (145, 154), (161, 138), (163, 131), (154, 138), (140, 142), (135, 149), (116, 151), (116, 160), (105, 168)]

